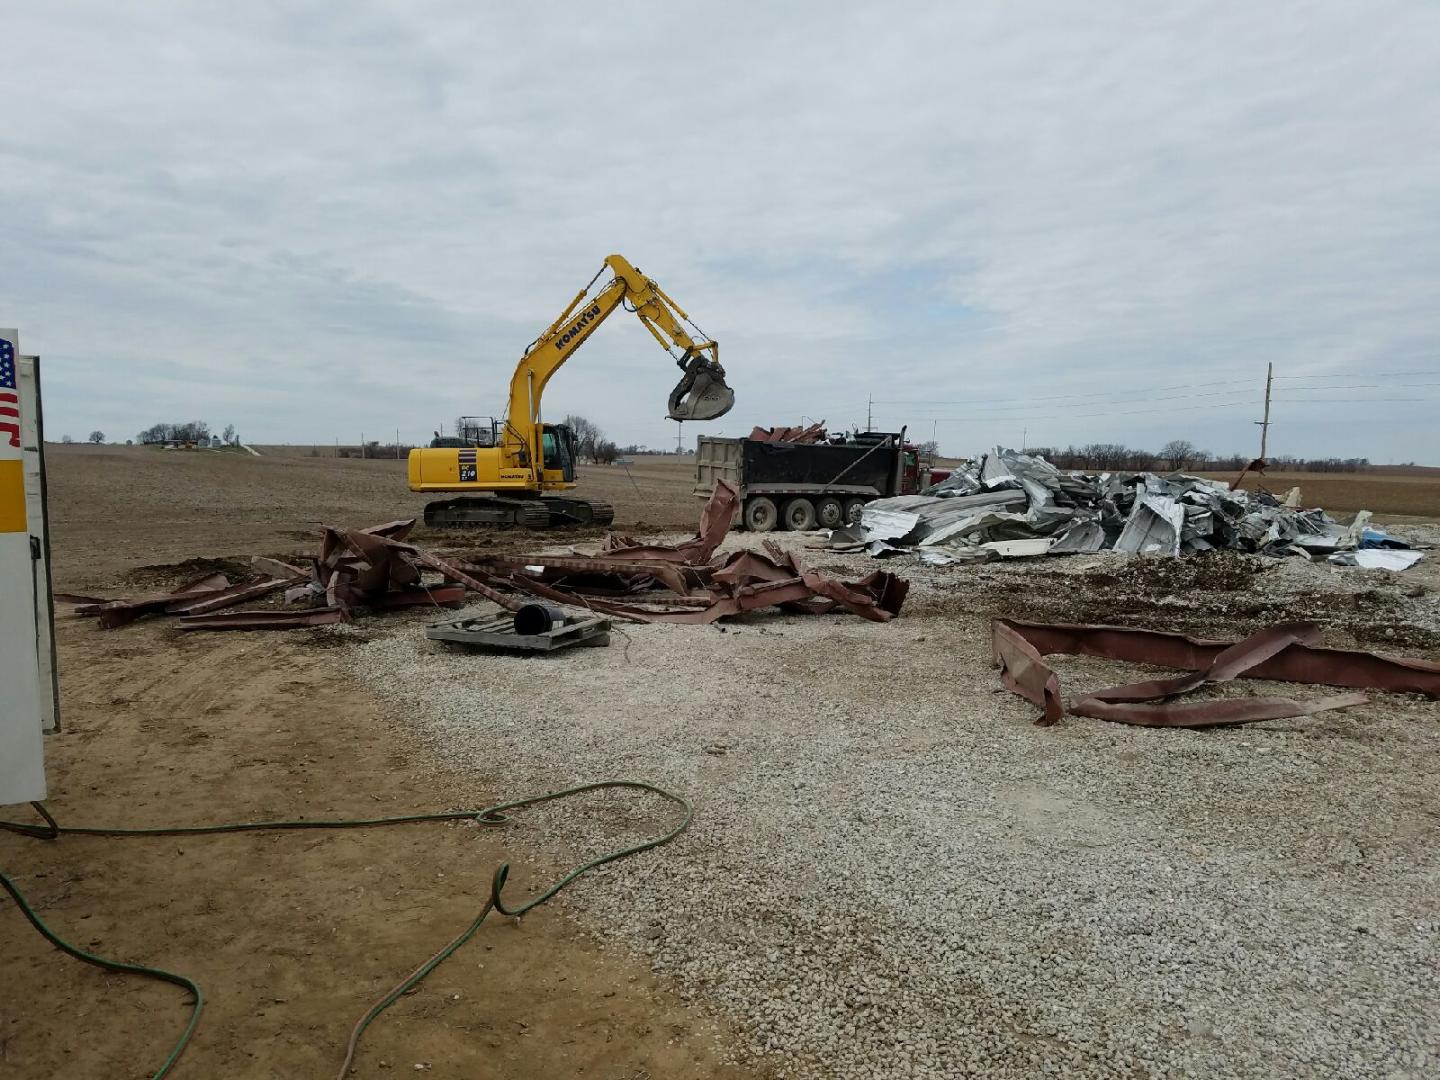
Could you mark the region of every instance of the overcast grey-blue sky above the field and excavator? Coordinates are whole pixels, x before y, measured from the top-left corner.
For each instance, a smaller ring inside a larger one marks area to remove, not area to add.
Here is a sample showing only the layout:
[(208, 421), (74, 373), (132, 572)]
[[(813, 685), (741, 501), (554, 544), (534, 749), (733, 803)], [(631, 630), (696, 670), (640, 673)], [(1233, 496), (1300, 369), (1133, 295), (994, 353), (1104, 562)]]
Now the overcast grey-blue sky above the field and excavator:
[[(1440, 464), (1440, 4), (0, 0), (0, 325), (52, 436), (428, 438), (609, 252), (698, 433)], [(618, 311), (550, 383), (674, 445)], [(1322, 389), (1335, 387), (1335, 389)]]

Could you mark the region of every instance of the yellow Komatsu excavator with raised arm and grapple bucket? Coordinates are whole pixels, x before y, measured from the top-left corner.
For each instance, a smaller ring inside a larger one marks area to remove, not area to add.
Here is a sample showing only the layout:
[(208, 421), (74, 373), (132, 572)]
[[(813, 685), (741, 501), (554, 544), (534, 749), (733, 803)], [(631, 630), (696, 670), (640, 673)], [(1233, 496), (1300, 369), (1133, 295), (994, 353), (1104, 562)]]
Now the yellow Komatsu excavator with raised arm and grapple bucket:
[[(606, 271), (613, 276), (592, 295)], [(540, 397), (550, 376), (621, 305), (645, 324), (684, 373), (670, 393), (670, 419), (713, 420), (730, 412), (734, 392), (724, 380), (720, 346), (660, 285), (624, 256), (611, 255), (520, 357), (503, 419), (464, 416), (454, 438), (436, 435), (428, 448), (410, 451), (410, 491), (459, 492), (426, 505), (425, 524), (549, 528), (615, 520), (613, 507), (603, 500), (559, 494), (575, 487), (576, 438), (569, 426), (540, 419)]]

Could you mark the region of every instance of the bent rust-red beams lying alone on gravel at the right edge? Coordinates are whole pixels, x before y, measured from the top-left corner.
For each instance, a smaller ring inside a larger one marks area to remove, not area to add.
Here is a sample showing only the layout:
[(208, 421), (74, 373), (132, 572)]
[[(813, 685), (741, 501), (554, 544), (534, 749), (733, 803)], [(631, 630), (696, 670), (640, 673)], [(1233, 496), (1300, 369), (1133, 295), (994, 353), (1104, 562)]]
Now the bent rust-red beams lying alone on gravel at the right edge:
[[(1146, 727), (1212, 727), (1309, 716), (1367, 701), (1362, 694), (1338, 694), (1312, 701), (1289, 697), (1198, 703), (1169, 700), (1240, 675), (1440, 698), (1440, 664), (1323, 648), (1312, 644), (1319, 634), (1315, 624), (1289, 622), (1253, 634), (1244, 641), (1227, 642), (1129, 626), (994, 619), (991, 647), (1005, 685), (1044, 710), (1035, 720), (1041, 726), (1058, 723), (1068, 711)], [(1060, 677), (1044, 662), (1044, 657), (1056, 652), (1155, 664), (1191, 674), (1097, 690), (1071, 698), (1067, 707), (1060, 693)]]

